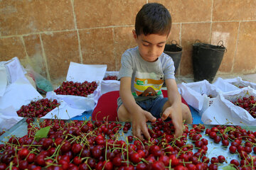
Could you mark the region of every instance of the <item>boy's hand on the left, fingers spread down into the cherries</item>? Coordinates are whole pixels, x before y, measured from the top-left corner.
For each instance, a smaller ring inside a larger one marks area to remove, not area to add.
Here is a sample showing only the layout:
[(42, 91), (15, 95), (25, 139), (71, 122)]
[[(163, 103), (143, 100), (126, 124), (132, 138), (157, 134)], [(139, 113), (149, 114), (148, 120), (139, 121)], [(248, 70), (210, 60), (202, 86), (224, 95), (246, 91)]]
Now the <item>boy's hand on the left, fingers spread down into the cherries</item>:
[(154, 118), (151, 113), (144, 111), (143, 109), (140, 109), (139, 112), (132, 114), (132, 135), (139, 138), (139, 140), (144, 140), (142, 137), (142, 133), (146, 137), (146, 139), (149, 139), (149, 131), (146, 127), (146, 122), (149, 120), (151, 122), (155, 122), (156, 118)]

